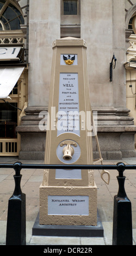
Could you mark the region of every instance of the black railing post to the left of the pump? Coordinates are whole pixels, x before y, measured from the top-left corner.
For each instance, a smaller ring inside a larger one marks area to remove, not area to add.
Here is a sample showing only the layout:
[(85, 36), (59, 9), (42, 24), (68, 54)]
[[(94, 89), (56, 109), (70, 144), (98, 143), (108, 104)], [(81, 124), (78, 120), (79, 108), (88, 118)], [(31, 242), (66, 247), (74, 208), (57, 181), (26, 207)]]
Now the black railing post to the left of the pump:
[(8, 203), (6, 245), (26, 245), (26, 194), (20, 187), (21, 162), (14, 163), (15, 190)]

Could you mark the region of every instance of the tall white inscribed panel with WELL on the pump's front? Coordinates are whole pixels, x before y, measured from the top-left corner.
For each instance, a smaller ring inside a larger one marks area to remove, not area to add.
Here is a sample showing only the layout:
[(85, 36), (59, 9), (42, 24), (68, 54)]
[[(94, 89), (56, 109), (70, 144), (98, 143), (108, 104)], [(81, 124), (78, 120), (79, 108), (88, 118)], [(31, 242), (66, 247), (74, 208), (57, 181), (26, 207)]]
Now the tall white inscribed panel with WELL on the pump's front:
[(78, 74), (60, 73), (57, 136), (70, 132), (80, 136)]

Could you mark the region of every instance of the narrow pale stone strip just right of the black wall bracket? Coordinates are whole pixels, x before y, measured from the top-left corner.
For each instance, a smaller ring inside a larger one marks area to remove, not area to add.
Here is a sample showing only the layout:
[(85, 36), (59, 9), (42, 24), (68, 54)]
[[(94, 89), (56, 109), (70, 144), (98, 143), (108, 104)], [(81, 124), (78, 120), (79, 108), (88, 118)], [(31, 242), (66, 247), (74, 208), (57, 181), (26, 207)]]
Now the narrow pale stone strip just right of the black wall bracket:
[(114, 107), (126, 108), (126, 32), (125, 32), (125, 1), (113, 2), (113, 52), (116, 68), (113, 71), (113, 104)]

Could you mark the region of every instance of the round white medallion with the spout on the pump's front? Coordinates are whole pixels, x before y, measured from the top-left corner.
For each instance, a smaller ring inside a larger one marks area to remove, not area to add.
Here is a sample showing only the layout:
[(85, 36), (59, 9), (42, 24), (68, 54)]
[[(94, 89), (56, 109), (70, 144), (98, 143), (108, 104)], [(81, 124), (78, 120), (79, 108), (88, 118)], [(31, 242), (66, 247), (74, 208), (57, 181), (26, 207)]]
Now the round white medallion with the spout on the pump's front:
[(63, 163), (76, 162), (81, 155), (81, 148), (78, 143), (71, 139), (66, 139), (59, 143), (57, 147), (57, 157)]

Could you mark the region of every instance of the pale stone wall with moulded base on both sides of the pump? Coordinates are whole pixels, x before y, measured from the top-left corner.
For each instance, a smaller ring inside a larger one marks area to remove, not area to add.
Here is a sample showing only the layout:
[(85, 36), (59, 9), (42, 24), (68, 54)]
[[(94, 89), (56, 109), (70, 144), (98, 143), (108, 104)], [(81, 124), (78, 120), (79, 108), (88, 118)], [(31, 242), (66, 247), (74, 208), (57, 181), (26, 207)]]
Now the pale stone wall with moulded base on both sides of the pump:
[[(98, 139), (104, 159), (135, 156), (136, 128), (126, 108), (125, 14), (124, 0), (81, 0), (81, 38), (88, 46), (90, 103), (98, 112)], [(30, 0), (28, 108), (17, 127), (22, 159), (44, 156), (46, 132), (39, 130), (39, 113), (48, 109), (52, 43), (60, 38), (60, 23), (60, 0), (41, 0), (40, 5)], [(117, 61), (110, 82), (113, 53)]]

